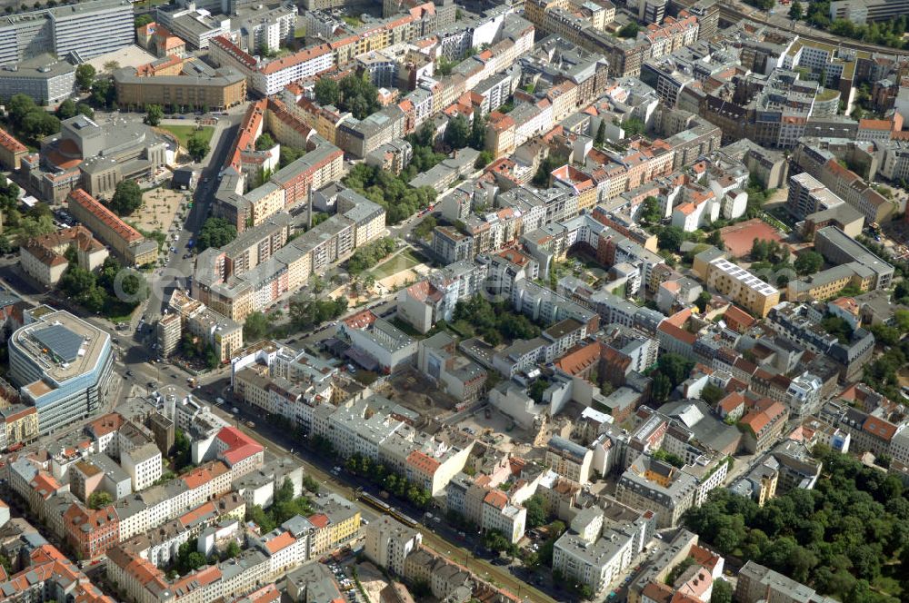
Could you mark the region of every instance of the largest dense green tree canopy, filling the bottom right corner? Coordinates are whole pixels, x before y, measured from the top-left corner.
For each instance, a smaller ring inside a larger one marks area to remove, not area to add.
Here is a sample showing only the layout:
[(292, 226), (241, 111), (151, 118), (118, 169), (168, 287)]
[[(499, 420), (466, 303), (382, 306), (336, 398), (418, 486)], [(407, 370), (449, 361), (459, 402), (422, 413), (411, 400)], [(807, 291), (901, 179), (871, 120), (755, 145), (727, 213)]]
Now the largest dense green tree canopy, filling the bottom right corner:
[[(909, 499), (896, 476), (864, 467), (824, 445), (814, 448), (825, 479), (759, 507), (728, 489), (685, 515), (689, 529), (722, 555), (752, 559), (849, 603), (893, 600), (869, 590), (885, 576), (905, 592)], [(895, 564), (895, 565), (894, 565)]]

